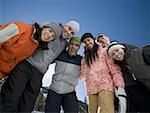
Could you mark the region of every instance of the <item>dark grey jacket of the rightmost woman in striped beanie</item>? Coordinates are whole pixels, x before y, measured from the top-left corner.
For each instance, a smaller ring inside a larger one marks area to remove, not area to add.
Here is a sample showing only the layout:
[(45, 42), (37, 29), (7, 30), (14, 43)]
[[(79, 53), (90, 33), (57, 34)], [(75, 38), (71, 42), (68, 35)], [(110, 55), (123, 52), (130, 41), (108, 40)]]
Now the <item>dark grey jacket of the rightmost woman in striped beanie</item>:
[(150, 65), (147, 65), (143, 59), (143, 48), (128, 49), (126, 45), (126, 62), (130, 76), (141, 81), (150, 90)]

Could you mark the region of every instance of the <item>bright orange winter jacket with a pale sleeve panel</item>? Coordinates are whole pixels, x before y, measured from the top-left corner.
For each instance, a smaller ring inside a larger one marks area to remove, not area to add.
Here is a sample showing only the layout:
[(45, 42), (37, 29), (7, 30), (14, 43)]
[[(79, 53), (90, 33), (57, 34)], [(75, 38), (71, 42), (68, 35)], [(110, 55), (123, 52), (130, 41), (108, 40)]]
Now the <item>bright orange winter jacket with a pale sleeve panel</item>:
[[(13, 22), (0, 27), (0, 79), (22, 60), (32, 55), (38, 44), (32, 40), (33, 26)], [(6, 38), (6, 40), (5, 40)]]

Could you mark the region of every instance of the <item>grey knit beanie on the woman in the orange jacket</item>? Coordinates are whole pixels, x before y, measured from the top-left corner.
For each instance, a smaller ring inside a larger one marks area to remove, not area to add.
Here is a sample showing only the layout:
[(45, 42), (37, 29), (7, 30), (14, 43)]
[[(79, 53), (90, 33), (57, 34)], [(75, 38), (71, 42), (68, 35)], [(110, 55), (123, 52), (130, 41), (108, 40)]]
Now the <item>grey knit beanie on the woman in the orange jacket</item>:
[(54, 23), (54, 22), (51, 22), (51, 23), (45, 23), (45, 24), (41, 24), (40, 27), (50, 27), (54, 34), (55, 34), (55, 38), (59, 38), (62, 34), (62, 27), (57, 24), (57, 23)]

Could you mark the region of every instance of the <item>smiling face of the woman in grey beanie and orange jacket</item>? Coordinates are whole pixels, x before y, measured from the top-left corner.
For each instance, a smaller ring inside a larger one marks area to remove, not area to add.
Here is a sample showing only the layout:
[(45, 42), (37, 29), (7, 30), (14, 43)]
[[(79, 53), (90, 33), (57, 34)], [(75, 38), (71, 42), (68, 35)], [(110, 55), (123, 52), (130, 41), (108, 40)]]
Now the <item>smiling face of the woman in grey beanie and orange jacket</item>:
[(55, 34), (51, 28), (43, 28), (41, 32), (41, 40), (51, 42), (55, 39)]

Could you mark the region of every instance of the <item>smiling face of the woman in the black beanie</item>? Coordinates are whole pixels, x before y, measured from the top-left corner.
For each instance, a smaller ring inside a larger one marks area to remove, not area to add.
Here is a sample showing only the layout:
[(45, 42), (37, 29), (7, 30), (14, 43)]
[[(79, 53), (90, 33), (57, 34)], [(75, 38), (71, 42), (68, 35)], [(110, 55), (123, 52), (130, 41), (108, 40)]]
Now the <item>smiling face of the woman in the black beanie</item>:
[(90, 37), (87, 37), (83, 40), (83, 43), (85, 44), (85, 47), (87, 49), (92, 49), (94, 46), (94, 40)]

